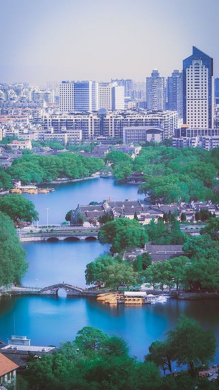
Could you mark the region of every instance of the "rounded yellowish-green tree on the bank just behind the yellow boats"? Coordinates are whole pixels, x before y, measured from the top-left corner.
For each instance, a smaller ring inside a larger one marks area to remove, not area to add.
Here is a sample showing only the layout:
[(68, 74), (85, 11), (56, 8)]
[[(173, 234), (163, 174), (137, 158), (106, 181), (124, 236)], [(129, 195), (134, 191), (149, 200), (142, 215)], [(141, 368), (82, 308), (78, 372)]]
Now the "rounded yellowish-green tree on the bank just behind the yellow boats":
[(116, 261), (106, 266), (105, 270), (99, 274), (99, 280), (102, 280), (107, 287), (118, 290), (122, 283), (133, 284), (136, 276), (131, 264), (126, 261), (122, 263)]

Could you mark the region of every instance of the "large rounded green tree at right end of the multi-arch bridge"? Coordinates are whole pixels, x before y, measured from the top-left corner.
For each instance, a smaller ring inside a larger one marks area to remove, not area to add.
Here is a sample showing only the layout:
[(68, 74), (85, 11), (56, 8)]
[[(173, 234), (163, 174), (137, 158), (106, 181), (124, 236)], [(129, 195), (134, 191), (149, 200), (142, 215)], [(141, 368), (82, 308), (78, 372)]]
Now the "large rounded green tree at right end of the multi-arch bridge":
[(126, 248), (138, 248), (146, 244), (148, 238), (145, 229), (135, 219), (117, 218), (107, 222), (98, 233), (101, 244), (112, 244), (112, 254)]

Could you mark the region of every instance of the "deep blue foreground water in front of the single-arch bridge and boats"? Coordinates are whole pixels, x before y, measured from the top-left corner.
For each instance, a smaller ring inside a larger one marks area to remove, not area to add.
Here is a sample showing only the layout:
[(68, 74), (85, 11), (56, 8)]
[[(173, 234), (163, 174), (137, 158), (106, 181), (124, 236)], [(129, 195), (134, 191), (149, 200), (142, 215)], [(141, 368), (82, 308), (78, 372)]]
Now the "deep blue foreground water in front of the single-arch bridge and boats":
[[(143, 359), (148, 346), (163, 339), (173, 329), (180, 313), (192, 316), (218, 336), (218, 301), (177, 301), (141, 307), (110, 306), (94, 298), (30, 296), (2, 297), (0, 299), (0, 339), (6, 341), (14, 333), (27, 335), (32, 344), (58, 345), (73, 340), (84, 326), (93, 326), (109, 334), (123, 336), (133, 355)], [(219, 362), (219, 351), (215, 358)]]

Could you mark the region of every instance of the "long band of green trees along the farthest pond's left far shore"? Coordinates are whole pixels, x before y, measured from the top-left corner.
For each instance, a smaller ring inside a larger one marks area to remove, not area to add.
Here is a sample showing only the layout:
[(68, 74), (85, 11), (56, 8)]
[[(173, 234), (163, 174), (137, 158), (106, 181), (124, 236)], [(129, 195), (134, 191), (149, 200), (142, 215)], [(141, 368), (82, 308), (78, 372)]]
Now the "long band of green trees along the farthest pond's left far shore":
[(7, 173), (21, 180), (23, 184), (41, 183), (59, 178), (87, 177), (104, 166), (100, 158), (84, 157), (73, 153), (60, 153), (56, 156), (24, 154), (16, 158)]

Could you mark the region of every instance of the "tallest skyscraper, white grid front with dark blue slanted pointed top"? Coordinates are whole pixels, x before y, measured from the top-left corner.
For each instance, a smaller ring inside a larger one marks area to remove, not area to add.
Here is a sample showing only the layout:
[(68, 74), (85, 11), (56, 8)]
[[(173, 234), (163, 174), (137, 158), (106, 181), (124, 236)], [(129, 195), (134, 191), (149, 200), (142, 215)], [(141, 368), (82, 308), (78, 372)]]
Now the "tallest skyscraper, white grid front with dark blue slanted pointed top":
[(213, 59), (197, 47), (183, 60), (183, 123), (191, 128), (214, 126)]

